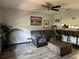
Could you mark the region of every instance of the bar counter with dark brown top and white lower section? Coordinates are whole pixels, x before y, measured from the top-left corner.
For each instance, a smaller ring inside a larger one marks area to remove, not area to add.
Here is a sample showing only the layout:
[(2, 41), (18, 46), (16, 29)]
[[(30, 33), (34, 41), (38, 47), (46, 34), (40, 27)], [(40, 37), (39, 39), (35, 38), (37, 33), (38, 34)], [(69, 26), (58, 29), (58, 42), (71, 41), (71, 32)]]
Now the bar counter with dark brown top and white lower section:
[(79, 46), (79, 31), (57, 30), (62, 35), (62, 41)]

